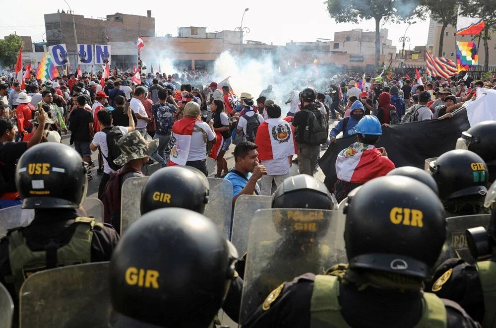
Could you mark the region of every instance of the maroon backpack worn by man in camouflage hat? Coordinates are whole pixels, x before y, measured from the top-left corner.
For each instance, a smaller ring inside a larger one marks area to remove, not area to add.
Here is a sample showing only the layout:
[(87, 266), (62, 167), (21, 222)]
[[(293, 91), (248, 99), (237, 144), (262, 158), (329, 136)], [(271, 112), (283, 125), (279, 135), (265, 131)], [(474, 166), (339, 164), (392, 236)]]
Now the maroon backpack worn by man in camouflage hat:
[(104, 222), (112, 224), (117, 231), (121, 230), (122, 176), (129, 172), (141, 173), (132, 167), (123, 167), (116, 172), (111, 172), (105, 191), (100, 198), (104, 206)]

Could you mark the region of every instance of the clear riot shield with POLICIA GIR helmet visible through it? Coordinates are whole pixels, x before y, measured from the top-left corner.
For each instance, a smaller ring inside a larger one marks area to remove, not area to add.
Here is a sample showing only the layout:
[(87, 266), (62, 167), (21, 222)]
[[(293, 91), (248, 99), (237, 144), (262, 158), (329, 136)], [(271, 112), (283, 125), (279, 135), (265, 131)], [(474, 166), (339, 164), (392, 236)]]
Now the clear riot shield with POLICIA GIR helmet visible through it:
[(345, 216), (334, 210), (261, 209), (255, 212), (241, 300), (243, 324), (269, 293), (306, 272), (323, 273), (347, 262)]

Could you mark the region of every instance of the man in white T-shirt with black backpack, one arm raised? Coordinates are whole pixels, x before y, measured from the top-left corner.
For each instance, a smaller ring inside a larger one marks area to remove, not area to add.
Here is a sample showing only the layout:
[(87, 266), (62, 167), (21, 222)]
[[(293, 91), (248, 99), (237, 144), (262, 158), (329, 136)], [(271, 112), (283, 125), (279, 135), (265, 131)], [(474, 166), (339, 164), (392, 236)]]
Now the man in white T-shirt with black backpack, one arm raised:
[[(127, 109), (127, 116), (129, 117), (129, 126), (128, 127), (114, 127), (112, 126), (112, 112), (106, 108), (100, 109), (96, 113), (98, 119), (98, 125), (100, 126), (100, 131), (96, 132), (93, 140), (90, 143), (91, 151), (96, 151), (100, 148), (100, 151), (103, 155), (103, 176), (100, 180), (100, 186), (98, 187), (98, 198), (102, 197), (105, 186), (110, 179), (110, 173), (115, 172), (112, 167), (109, 165), (107, 158), (109, 158), (109, 147), (107, 145), (107, 133), (114, 130), (114, 132), (121, 132), (123, 135), (129, 132), (134, 131), (134, 121), (132, 119), (131, 109)], [(111, 158), (109, 158), (110, 160)], [(115, 158), (114, 158), (115, 159)], [(112, 166), (114, 168), (118, 168), (113, 163)]]

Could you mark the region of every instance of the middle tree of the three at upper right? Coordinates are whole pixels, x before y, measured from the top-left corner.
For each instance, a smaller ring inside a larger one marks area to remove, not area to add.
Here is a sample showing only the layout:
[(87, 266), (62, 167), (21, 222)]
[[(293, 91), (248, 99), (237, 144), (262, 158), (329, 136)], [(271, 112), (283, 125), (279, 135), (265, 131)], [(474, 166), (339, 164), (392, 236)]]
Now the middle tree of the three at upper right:
[(421, 0), (420, 7), (417, 10), (417, 16), (421, 19), (426, 18), (429, 15), (436, 22), (442, 24), (441, 35), (439, 36), (439, 52), (438, 57), (442, 56), (442, 46), (444, 41), (444, 30), (451, 24), (456, 25), (456, 15), (458, 13), (458, 3), (451, 2), (447, 3), (445, 1), (439, 0)]

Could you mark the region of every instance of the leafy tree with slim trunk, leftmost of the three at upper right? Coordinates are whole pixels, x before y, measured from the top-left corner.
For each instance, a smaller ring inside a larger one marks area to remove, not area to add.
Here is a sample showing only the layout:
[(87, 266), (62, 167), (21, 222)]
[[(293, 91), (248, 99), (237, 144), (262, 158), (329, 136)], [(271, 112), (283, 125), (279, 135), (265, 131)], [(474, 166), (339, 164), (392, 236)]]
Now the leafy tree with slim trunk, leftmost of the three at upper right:
[(416, 0), (327, 0), (327, 11), (337, 23), (375, 20), (375, 62), (380, 60), (380, 23), (408, 20), (419, 2)]

